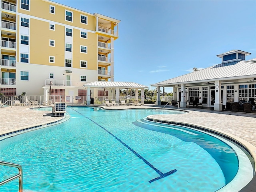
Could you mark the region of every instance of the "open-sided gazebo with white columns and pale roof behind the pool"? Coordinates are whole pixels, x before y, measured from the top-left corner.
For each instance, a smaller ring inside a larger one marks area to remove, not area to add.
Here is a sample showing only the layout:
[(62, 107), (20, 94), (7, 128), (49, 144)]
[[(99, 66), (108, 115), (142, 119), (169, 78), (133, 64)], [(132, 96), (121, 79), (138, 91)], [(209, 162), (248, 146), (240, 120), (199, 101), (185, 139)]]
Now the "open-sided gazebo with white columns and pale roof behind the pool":
[[(116, 102), (119, 102), (119, 89), (135, 89), (135, 99), (139, 98), (139, 89), (141, 90), (141, 104), (144, 104), (144, 89), (148, 86), (134, 83), (134, 82), (114, 82), (114, 81), (94, 81), (87, 84), (84, 84), (83, 87), (87, 88), (87, 105), (91, 103), (90, 92), (92, 88), (104, 88), (104, 89), (115, 89), (113, 91), (113, 98)], [(88, 94), (89, 93), (89, 94)]]

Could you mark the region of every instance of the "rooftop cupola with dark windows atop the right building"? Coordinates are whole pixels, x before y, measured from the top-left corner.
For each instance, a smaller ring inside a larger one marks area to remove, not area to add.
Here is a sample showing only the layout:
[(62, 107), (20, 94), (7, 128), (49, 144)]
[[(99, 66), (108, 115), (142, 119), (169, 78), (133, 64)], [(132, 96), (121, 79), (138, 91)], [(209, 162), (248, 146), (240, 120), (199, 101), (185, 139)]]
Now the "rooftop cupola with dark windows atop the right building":
[(241, 50), (232, 50), (219, 54), (217, 57), (222, 58), (222, 63), (226, 63), (232, 61), (245, 61), (246, 55), (250, 55), (250, 53)]

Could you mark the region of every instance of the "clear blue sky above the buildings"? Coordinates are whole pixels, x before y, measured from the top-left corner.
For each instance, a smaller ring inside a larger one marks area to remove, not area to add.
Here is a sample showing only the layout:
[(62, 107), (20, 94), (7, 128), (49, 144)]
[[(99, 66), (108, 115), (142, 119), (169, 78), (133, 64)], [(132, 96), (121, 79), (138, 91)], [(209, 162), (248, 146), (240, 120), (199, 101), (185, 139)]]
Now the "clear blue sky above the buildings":
[[(53, 0), (121, 20), (114, 81), (149, 86), (221, 63), (238, 49), (256, 58), (256, 1)], [(153, 89), (153, 87), (152, 87)], [(165, 92), (172, 91), (166, 88)]]

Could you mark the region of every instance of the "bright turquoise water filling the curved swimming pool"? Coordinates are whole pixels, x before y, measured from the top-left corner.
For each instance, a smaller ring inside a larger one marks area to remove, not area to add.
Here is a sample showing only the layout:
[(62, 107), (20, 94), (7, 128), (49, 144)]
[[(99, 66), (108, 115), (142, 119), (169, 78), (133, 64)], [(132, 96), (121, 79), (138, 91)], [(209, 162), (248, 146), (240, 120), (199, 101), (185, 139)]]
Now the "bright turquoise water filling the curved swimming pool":
[[(214, 192), (237, 173), (237, 155), (221, 140), (143, 120), (160, 110), (67, 112), (66, 122), (0, 141), (1, 160), (22, 165), (24, 191)], [(1, 167), (0, 178), (16, 172)], [(0, 187), (17, 189), (17, 180)]]

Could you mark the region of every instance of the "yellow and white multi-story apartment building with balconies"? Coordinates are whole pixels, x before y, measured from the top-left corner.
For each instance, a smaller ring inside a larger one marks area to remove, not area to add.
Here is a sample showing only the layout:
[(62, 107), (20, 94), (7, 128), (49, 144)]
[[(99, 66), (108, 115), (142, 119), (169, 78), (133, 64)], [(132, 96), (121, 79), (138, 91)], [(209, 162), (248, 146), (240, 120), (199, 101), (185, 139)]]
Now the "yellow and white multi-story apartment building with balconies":
[(49, 0), (0, 2), (1, 93), (85, 96), (87, 82), (114, 81), (120, 20)]

